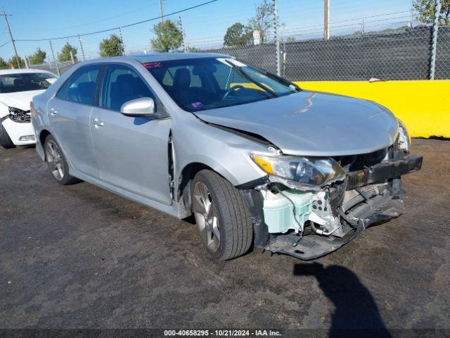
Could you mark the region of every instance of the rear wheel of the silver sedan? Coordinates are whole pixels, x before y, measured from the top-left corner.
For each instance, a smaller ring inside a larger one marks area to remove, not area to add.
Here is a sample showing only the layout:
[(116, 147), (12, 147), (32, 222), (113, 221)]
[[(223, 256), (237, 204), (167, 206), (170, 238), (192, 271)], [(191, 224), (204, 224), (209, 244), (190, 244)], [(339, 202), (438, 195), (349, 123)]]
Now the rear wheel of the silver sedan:
[(68, 185), (78, 182), (76, 177), (69, 174), (68, 161), (61, 151), (56, 139), (49, 135), (44, 142), (44, 152), (47, 165), (53, 178), (62, 185)]

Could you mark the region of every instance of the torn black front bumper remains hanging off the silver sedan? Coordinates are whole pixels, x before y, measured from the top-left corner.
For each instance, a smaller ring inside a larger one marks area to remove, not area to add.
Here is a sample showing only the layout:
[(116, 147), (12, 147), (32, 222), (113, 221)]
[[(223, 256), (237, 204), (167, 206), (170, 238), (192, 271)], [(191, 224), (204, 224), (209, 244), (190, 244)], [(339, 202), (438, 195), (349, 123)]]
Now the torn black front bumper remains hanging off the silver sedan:
[[(324, 236), (316, 232), (304, 232), (299, 236), (294, 232), (274, 234), (264, 222), (264, 196), (258, 189), (241, 190), (243, 198), (248, 204), (255, 227), (255, 249), (285, 253), (303, 260), (311, 260), (326, 255), (354, 239), (358, 234), (373, 223), (380, 223), (395, 218), (404, 212), (401, 199), (401, 175), (420, 170), (422, 156), (383, 161), (371, 165), (364, 170), (350, 172), (345, 182), (345, 190), (356, 192), (353, 204), (347, 202), (338, 206), (336, 213), (345, 228), (343, 236)], [(383, 184), (383, 189), (375, 189), (375, 193), (366, 194), (360, 187), (368, 184)], [(345, 206), (345, 207), (344, 207)]]

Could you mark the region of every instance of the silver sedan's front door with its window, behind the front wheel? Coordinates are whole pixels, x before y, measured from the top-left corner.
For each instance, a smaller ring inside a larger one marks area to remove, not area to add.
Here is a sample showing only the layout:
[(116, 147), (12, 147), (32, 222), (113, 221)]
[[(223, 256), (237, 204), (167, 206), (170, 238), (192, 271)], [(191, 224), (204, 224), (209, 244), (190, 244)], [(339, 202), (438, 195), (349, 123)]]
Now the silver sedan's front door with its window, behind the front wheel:
[(105, 68), (99, 106), (91, 113), (94, 150), (104, 182), (134, 194), (171, 204), (168, 142), (171, 120), (122, 115), (125, 102), (141, 97), (158, 100), (129, 65)]

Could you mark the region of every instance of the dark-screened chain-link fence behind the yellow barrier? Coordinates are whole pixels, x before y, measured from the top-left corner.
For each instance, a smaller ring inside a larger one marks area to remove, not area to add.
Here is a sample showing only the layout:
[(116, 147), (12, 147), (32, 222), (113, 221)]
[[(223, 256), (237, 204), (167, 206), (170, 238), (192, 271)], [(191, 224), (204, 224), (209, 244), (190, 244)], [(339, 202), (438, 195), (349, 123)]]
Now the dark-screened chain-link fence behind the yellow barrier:
[[(435, 79), (450, 79), (450, 27), (439, 27)], [(276, 44), (195, 50), (227, 54), (276, 73)], [(302, 81), (427, 80), (432, 26), (283, 41), (281, 75)]]

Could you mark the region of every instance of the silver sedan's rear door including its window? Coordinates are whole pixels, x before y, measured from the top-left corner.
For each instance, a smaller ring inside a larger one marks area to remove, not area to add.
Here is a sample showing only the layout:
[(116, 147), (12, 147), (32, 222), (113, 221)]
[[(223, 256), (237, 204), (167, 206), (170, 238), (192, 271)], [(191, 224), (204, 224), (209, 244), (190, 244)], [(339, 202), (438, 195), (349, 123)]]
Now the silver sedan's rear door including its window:
[(53, 134), (68, 161), (79, 172), (97, 179), (90, 115), (101, 67), (86, 65), (76, 70), (47, 105)]

